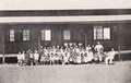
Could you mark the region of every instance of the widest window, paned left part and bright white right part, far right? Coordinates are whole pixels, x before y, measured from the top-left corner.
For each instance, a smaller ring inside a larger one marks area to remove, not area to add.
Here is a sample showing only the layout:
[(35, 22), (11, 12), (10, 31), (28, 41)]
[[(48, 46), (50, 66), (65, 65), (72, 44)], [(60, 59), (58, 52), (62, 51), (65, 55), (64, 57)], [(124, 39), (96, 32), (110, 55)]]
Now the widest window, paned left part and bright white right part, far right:
[(94, 39), (110, 39), (110, 28), (94, 26)]

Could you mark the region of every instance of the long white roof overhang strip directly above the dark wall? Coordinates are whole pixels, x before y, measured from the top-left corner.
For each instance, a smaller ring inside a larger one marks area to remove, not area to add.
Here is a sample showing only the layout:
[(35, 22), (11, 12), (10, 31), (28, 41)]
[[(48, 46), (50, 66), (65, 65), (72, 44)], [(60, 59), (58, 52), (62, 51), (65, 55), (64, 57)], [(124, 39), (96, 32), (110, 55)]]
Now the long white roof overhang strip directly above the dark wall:
[(0, 23), (40, 23), (40, 22), (108, 22), (131, 21), (128, 15), (84, 15), (84, 16), (5, 16)]

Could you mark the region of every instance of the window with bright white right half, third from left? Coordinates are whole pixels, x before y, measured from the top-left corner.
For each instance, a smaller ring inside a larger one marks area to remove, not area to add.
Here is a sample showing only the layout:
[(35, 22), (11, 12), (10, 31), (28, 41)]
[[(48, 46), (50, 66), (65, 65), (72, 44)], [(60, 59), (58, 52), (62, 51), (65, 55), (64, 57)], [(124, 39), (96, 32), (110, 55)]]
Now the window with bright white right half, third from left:
[(41, 40), (51, 40), (51, 31), (50, 29), (41, 31)]

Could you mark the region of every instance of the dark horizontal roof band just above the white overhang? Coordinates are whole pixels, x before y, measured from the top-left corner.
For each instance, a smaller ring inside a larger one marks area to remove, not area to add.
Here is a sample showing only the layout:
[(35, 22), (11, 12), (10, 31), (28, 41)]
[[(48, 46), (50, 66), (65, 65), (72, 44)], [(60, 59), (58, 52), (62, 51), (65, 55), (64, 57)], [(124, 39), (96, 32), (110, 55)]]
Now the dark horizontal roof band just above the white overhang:
[(122, 15), (131, 14), (131, 9), (95, 10), (4, 10), (0, 16), (78, 16), (78, 15)]

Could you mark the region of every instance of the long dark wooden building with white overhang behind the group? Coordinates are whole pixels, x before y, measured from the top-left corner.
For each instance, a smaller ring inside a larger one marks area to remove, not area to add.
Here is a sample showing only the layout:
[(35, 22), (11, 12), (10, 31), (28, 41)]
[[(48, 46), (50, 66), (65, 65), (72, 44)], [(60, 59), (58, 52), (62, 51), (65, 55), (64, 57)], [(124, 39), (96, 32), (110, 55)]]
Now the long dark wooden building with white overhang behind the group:
[[(119, 12), (122, 11), (122, 12)], [(100, 42), (105, 50), (131, 49), (130, 9), (0, 11), (0, 54), (40, 46)]]

